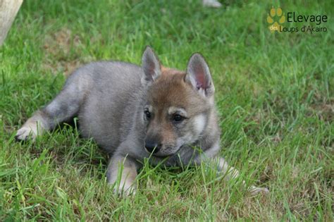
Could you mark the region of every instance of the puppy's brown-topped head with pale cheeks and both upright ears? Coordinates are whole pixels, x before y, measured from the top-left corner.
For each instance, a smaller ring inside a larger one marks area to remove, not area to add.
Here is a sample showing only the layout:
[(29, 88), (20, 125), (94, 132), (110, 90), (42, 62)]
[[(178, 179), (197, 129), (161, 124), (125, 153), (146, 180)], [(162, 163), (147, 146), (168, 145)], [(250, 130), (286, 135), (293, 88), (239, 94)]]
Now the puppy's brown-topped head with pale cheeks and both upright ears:
[(151, 48), (142, 56), (142, 84), (148, 87), (142, 110), (147, 124), (145, 149), (171, 156), (197, 142), (214, 109), (214, 84), (203, 56), (193, 54), (186, 72), (164, 68)]

